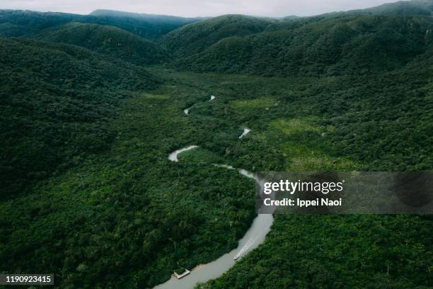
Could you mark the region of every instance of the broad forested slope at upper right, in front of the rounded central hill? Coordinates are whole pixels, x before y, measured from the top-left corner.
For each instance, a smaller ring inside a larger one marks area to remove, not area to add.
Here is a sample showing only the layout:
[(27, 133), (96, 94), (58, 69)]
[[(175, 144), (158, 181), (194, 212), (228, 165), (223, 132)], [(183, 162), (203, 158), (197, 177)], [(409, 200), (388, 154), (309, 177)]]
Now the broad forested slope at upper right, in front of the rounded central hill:
[(262, 33), (221, 39), (181, 58), (177, 67), (265, 76), (370, 74), (402, 67), (429, 50), (432, 29), (427, 16), (350, 14), (283, 21)]

